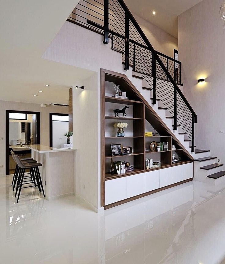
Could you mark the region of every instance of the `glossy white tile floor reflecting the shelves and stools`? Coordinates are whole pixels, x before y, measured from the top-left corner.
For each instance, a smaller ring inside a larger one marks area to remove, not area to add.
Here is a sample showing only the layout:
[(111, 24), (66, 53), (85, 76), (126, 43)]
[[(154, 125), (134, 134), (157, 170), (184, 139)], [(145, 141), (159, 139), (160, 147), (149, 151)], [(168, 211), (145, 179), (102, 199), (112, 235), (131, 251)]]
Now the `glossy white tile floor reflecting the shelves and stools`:
[[(16, 204), (0, 177), (0, 263), (223, 263), (225, 185), (197, 181), (98, 215), (75, 196), (33, 188)], [(32, 194), (31, 194), (32, 191)]]

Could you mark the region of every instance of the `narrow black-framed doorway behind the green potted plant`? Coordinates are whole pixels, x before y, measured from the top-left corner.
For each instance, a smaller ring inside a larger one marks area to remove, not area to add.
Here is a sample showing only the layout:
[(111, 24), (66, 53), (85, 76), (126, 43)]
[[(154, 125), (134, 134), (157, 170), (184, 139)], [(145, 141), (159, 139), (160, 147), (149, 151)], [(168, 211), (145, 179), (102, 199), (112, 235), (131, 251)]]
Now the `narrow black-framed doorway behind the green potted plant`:
[(64, 136), (69, 131), (69, 115), (49, 113), (49, 143), (50, 147), (61, 149), (67, 147)]

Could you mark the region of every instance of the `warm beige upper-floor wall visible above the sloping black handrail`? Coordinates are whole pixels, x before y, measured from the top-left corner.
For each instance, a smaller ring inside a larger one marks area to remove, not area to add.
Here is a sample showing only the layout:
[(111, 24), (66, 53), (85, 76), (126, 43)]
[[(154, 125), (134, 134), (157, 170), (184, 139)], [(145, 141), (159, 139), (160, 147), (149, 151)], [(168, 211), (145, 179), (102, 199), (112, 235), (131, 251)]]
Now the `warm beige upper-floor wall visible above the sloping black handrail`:
[(153, 48), (173, 58), (173, 50), (178, 49), (178, 40), (145, 19), (135, 14), (134, 17)]

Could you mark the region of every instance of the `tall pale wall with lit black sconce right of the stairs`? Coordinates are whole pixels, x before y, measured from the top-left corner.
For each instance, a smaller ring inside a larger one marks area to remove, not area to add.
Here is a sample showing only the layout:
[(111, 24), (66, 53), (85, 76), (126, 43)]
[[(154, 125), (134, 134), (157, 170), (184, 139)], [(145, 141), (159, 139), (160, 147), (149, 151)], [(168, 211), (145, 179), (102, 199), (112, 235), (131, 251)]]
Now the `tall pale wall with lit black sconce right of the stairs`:
[[(225, 29), (219, 17), (223, 0), (203, 0), (179, 16), (179, 60), (183, 92), (198, 116), (196, 146), (210, 149), (225, 162), (224, 43)], [(205, 83), (197, 84), (204, 78)]]

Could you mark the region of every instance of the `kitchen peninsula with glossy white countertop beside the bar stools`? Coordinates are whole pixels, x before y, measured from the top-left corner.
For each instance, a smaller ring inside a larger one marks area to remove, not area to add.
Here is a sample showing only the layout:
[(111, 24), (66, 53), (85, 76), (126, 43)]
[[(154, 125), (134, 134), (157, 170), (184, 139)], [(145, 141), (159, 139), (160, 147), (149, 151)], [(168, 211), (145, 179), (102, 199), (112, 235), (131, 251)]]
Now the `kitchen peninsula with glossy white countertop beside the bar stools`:
[(26, 145), (39, 167), (46, 198), (74, 194), (74, 160), (76, 149), (56, 149), (43, 145)]

